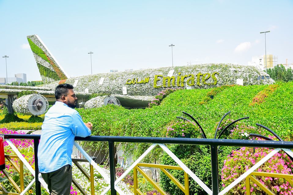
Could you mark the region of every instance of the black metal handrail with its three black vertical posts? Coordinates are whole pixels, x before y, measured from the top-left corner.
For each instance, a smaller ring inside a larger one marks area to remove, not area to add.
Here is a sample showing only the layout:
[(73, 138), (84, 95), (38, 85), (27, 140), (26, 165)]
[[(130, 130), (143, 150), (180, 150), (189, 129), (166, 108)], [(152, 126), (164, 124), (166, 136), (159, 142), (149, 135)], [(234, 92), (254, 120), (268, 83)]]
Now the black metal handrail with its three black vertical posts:
[[(1, 134), (5, 139), (33, 139), (35, 152), (35, 186), (36, 195), (41, 195), (41, 186), (39, 182), (38, 168), (38, 146), (40, 135), (15, 135)], [(293, 149), (293, 142), (272, 141), (272, 140), (227, 140), (227, 139), (198, 139), (198, 138), (162, 138), (162, 137), (115, 137), (115, 136), (89, 136), (76, 137), (76, 141), (105, 141), (109, 144), (109, 164), (110, 164), (110, 186), (111, 195), (116, 195), (115, 190), (115, 142), (128, 143), (157, 143), (157, 144), (189, 144), (189, 145), (207, 145), (211, 147), (212, 162), (212, 191), (213, 195), (219, 193), (218, 164), (217, 164), (217, 147), (218, 146), (235, 146), (235, 147), (269, 147), (269, 148), (287, 148)]]

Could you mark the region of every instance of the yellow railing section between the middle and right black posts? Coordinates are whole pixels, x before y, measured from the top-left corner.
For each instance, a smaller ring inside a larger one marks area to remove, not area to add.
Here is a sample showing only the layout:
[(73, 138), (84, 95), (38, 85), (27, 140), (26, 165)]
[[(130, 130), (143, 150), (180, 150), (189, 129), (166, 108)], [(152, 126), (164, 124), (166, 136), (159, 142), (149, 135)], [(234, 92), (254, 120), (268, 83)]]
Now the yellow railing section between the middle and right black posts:
[(166, 192), (156, 183), (152, 178), (150, 178), (146, 172), (144, 172), (140, 167), (153, 167), (153, 168), (160, 168), (162, 172), (164, 172), (175, 184), (184, 192), (185, 195), (189, 195), (189, 183), (188, 183), (188, 174), (184, 172), (184, 186), (174, 177), (167, 169), (175, 169), (175, 170), (183, 170), (181, 167), (178, 166), (171, 166), (171, 165), (157, 165), (157, 164), (149, 164), (149, 163), (138, 163), (133, 168), (133, 182), (134, 182), (134, 195), (143, 195), (143, 193), (138, 188), (137, 182), (137, 172), (140, 172), (147, 181), (149, 181), (156, 190), (162, 195), (167, 195)]

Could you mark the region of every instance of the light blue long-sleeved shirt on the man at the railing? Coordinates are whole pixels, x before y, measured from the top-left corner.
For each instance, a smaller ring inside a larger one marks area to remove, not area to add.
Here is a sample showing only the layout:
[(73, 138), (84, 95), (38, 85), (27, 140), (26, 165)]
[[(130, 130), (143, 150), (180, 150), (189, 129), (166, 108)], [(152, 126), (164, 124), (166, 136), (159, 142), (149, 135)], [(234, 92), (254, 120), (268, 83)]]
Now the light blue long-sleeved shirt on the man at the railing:
[(87, 137), (91, 130), (83, 123), (79, 113), (63, 102), (56, 101), (42, 125), (38, 149), (39, 171), (48, 173), (71, 165), (74, 137)]

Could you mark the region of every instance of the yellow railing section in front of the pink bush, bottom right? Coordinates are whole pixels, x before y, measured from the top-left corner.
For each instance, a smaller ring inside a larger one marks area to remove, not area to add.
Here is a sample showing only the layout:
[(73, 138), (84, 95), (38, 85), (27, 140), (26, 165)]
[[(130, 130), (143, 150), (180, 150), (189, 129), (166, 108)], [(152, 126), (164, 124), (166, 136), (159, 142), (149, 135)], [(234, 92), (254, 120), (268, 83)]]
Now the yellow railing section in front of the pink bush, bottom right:
[(289, 182), (293, 186), (293, 175), (281, 174), (281, 173), (267, 173), (267, 172), (252, 172), (245, 178), (246, 183), (246, 194), (250, 195), (250, 180), (254, 182), (257, 186), (259, 186), (265, 193), (269, 195), (275, 195), (269, 188), (267, 188), (264, 184), (262, 184), (258, 179), (254, 176), (264, 176), (264, 177), (278, 177), (284, 178), (287, 182)]

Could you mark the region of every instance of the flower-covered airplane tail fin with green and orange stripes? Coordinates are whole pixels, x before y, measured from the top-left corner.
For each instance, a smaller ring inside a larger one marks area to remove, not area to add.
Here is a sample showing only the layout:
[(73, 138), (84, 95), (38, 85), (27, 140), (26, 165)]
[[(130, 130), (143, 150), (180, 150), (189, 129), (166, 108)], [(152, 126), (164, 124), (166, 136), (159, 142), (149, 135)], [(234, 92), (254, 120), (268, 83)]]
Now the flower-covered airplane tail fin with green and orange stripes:
[(29, 35), (27, 38), (44, 83), (69, 78), (37, 34)]

